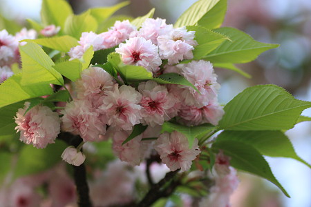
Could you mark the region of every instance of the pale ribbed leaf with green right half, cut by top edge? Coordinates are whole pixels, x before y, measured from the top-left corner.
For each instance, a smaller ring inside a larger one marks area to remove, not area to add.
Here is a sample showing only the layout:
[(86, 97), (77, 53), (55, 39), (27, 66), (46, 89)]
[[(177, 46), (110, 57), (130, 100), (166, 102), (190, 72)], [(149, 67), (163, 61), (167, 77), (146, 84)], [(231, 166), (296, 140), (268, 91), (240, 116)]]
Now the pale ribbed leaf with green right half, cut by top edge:
[(226, 0), (196, 1), (180, 15), (174, 27), (194, 26), (198, 23), (207, 28), (217, 28), (223, 23), (226, 10)]

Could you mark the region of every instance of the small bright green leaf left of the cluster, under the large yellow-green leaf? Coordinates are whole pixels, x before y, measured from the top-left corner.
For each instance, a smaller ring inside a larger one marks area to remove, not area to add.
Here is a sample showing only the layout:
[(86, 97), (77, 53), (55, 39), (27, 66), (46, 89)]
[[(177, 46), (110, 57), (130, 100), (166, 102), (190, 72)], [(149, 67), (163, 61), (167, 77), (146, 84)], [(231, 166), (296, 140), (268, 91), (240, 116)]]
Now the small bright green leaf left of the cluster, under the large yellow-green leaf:
[(53, 68), (71, 81), (76, 81), (80, 78), (82, 63), (78, 59), (74, 59), (72, 61), (56, 63)]

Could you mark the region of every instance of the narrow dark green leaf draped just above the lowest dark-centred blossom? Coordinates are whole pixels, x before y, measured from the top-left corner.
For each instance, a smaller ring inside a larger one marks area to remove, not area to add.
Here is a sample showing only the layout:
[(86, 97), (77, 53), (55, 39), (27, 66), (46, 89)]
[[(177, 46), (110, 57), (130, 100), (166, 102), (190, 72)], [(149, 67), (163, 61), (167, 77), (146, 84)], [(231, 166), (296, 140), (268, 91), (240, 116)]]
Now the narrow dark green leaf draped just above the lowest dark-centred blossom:
[(188, 138), (189, 141), (189, 148), (192, 148), (192, 145), (194, 144), (194, 139), (196, 137), (207, 134), (208, 132), (211, 132), (211, 130), (216, 129), (215, 126), (212, 126), (211, 124), (202, 124), (199, 126), (183, 126), (180, 124), (174, 124), (168, 121), (165, 121), (162, 125), (161, 133), (163, 132), (173, 132), (177, 131), (182, 133)]

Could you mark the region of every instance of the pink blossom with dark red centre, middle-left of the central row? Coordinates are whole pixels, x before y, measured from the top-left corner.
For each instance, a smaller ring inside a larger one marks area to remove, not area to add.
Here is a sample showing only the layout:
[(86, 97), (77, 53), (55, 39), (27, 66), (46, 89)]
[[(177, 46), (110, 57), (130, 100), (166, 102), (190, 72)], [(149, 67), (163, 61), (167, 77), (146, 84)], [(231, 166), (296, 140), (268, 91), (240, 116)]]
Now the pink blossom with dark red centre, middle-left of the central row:
[(135, 124), (140, 123), (141, 99), (142, 95), (135, 88), (126, 85), (118, 88), (115, 84), (113, 91), (106, 92), (99, 111), (105, 117), (106, 124), (131, 130)]

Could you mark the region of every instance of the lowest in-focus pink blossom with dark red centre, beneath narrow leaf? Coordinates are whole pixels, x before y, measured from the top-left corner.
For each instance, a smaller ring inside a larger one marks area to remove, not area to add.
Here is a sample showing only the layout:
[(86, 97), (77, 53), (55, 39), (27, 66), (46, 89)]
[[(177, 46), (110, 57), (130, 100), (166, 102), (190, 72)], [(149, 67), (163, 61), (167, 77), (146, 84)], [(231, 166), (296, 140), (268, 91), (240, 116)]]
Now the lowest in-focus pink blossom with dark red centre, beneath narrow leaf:
[(171, 171), (179, 168), (181, 172), (189, 170), (192, 161), (200, 154), (198, 139), (195, 139), (192, 148), (189, 148), (187, 137), (176, 131), (160, 135), (154, 148), (160, 154), (162, 163), (166, 164)]

